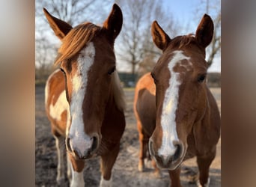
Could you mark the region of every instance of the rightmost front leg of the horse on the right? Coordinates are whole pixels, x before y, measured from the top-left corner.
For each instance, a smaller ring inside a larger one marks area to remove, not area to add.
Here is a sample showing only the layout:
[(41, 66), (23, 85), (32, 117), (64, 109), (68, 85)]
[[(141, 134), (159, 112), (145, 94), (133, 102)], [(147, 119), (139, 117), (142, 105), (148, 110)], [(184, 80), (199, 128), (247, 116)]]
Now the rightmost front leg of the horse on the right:
[(207, 187), (210, 184), (209, 168), (210, 164), (216, 156), (216, 150), (209, 156), (197, 156), (198, 170), (199, 170), (199, 182), (198, 186)]

